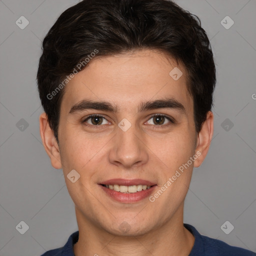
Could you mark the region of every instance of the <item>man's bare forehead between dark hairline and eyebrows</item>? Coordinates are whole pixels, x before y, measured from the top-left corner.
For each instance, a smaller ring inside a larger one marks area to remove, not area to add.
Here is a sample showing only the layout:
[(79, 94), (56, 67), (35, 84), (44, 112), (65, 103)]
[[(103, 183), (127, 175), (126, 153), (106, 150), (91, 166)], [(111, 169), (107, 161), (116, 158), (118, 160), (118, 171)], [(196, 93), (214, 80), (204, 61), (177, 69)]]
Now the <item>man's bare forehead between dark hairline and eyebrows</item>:
[(71, 105), (91, 98), (127, 109), (164, 97), (192, 107), (185, 67), (161, 51), (146, 49), (90, 60), (65, 86), (61, 105), (67, 111)]

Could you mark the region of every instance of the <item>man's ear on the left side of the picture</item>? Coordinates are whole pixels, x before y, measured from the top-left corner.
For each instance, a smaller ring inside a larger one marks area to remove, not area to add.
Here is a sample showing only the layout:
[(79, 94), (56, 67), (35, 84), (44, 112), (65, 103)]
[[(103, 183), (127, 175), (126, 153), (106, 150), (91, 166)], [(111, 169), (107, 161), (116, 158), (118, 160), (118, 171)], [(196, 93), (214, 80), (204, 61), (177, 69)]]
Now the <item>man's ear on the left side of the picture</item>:
[(49, 126), (46, 113), (42, 113), (39, 117), (40, 135), (42, 144), (48, 156), (50, 157), (51, 165), (56, 169), (61, 169), (59, 147), (52, 129)]

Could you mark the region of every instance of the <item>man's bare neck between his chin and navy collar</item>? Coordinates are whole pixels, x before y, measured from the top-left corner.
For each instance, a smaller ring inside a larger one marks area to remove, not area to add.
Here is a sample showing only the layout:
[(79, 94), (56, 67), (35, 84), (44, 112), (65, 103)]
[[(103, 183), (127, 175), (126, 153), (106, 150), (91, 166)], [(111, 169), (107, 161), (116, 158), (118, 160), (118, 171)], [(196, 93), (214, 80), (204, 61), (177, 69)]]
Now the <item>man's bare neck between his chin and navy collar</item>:
[(183, 226), (183, 206), (166, 223), (143, 235), (113, 235), (97, 223), (86, 221), (76, 208), (79, 237), (73, 246), (75, 256), (188, 256), (193, 235)]

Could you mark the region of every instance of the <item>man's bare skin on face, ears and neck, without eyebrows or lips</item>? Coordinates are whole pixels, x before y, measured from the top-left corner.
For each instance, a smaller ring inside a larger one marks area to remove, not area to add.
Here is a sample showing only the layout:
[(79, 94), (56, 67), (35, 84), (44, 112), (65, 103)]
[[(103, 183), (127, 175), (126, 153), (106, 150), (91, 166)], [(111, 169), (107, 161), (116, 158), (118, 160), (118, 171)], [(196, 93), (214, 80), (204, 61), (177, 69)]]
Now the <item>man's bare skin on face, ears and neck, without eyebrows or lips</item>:
[[(169, 75), (174, 67), (183, 73), (178, 80)], [(141, 102), (169, 97), (182, 103), (185, 111), (138, 111)], [(72, 105), (84, 98), (115, 104), (118, 111), (84, 109), (69, 114)], [(102, 121), (99, 125), (95, 118), (82, 123), (89, 114), (105, 119), (96, 119)], [(153, 114), (173, 118), (174, 123), (162, 117), (163, 123), (157, 124)], [(123, 118), (131, 124), (127, 131), (118, 127)], [(39, 121), (44, 148), (52, 166), (63, 169), (75, 204), (79, 229), (75, 256), (189, 254), (194, 237), (183, 226), (184, 199), (192, 169), (202, 163), (209, 149), (213, 114), (207, 113), (197, 134), (182, 64), (149, 49), (94, 58), (65, 87), (59, 144), (45, 113)], [(153, 202), (148, 197), (133, 203), (117, 202), (98, 185), (111, 178), (141, 178), (157, 184), (157, 191), (198, 151), (201, 155)], [(67, 178), (72, 169), (80, 174), (74, 183)], [(121, 228), (123, 225), (129, 228)]]

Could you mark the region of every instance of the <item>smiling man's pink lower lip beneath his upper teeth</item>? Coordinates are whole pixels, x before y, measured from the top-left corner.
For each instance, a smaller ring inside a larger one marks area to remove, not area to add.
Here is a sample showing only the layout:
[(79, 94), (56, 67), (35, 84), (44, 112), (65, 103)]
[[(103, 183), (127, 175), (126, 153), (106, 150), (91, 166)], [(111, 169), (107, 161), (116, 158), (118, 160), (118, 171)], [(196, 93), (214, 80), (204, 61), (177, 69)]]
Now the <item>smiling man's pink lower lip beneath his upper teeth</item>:
[(118, 192), (118, 191), (109, 189), (102, 185), (99, 185), (99, 186), (101, 186), (101, 188), (106, 192), (107, 195), (109, 195), (116, 201), (125, 202), (125, 203), (137, 202), (137, 201), (140, 201), (140, 200), (148, 197), (152, 193), (154, 188), (156, 187), (156, 185), (153, 185), (148, 189), (137, 191), (135, 193), (122, 193), (122, 192)]

